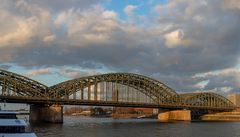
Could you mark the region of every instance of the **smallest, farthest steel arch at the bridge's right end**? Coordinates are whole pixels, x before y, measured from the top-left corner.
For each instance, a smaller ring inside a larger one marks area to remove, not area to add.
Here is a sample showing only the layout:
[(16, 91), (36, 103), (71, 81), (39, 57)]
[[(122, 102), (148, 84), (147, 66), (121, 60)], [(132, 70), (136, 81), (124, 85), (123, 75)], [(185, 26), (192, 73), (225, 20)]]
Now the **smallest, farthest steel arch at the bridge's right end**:
[(234, 104), (227, 98), (212, 92), (180, 94), (186, 106), (198, 108), (234, 108)]

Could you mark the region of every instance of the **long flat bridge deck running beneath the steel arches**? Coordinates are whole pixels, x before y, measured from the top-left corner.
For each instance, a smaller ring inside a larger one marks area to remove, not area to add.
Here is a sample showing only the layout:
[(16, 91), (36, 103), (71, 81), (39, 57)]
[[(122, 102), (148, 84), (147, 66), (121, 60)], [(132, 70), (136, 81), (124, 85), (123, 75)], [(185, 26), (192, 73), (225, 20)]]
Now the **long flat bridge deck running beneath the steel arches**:
[(7, 100), (8, 103), (28, 103), (28, 104), (58, 104), (58, 105), (86, 105), (86, 106), (113, 106), (113, 107), (140, 107), (140, 108), (161, 108), (161, 109), (206, 109), (206, 110), (224, 110), (230, 111), (235, 107), (208, 107), (192, 106), (184, 104), (149, 104), (135, 102), (117, 102), (117, 101), (94, 101), (94, 100), (75, 100), (75, 99), (42, 99), (42, 98), (25, 98), (14, 96), (0, 96), (1, 102)]

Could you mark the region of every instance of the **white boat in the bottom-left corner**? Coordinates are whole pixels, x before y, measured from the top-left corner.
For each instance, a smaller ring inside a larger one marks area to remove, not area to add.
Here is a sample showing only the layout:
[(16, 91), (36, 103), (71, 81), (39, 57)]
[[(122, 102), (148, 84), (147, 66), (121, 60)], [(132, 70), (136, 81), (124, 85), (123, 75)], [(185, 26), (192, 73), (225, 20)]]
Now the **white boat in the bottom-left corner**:
[(25, 131), (27, 123), (17, 119), (17, 112), (0, 111), (0, 137), (37, 137)]

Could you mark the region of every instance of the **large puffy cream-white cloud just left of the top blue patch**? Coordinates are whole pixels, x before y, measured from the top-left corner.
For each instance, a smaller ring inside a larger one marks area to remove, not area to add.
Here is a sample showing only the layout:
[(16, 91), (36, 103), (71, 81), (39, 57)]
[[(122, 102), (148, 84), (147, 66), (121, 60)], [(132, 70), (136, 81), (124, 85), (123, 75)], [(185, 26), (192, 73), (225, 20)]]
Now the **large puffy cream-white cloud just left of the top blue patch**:
[(68, 40), (73, 45), (106, 43), (112, 31), (118, 28), (117, 14), (95, 6), (89, 10), (63, 11), (54, 21), (57, 28), (65, 26)]

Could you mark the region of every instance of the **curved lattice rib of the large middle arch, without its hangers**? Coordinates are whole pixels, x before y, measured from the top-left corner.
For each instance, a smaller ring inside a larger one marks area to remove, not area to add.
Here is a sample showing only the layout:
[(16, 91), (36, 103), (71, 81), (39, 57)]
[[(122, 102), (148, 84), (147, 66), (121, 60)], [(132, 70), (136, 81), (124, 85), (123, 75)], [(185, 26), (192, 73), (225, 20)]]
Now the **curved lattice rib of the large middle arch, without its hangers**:
[[(79, 90), (89, 88), (89, 86), (99, 86), (99, 83), (103, 82), (112, 83), (122, 88), (133, 88), (150, 97), (154, 101), (153, 103), (157, 104), (175, 104), (178, 101), (177, 99), (179, 99), (179, 95), (165, 84), (152, 78), (132, 73), (109, 73), (65, 81), (49, 88), (50, 98), (68, 97)], [(117, 90), (119, 89), (117, 88)]]

